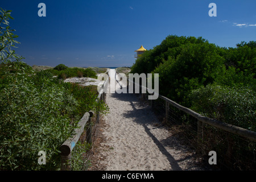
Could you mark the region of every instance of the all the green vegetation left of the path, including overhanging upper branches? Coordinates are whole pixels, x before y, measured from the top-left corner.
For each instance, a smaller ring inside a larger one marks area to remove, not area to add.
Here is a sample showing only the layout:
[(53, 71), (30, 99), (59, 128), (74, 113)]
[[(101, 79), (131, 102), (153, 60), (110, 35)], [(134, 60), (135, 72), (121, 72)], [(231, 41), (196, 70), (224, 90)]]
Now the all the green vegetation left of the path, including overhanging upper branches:
[[(13, 50), (19, 42), (15, 40), (18, 37), (15, 30), (9, 26), (8, 20), (13, 19), (11, 11), (1, 9), (1, 13), (0, 170), (59, 169), (59, 147), (72, 135), (84, 113), (100, 108), (104, 114), (108, 110), (103, 101), (97, 100), (97, 88), (59, 78), (61, 75), (96, 77), (96, 73), (92, 69), (61, 65), (57, 67), (60, 70), (35, 71)], [(53, 77), (55, 73), (59, 77)], [(82, 148), (78, 155), (88, 150)], [(46, 165), (38, 164), (39, 151), (46, 152)]]

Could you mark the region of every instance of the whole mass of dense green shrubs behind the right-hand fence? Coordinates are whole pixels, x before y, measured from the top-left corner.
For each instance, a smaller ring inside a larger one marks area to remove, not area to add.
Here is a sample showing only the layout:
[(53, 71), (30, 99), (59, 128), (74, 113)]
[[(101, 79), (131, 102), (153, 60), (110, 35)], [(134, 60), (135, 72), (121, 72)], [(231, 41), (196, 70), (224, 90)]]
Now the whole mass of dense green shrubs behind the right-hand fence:
[(223, 122), (256, 131), (256, 42), (219, 47), (169, 35), (145, 51), (131, 73), (159, 73), (159, 93)]

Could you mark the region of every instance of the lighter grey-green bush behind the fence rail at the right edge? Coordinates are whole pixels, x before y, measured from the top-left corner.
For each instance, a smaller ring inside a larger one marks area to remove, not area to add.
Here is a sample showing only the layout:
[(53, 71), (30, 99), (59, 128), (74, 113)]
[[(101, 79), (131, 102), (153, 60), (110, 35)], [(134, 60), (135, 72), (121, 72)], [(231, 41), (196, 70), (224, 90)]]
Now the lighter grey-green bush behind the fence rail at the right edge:
[(256, 131), (256, 93), (250, 88), (207, 85), (193, 90), (192, 109), (209, 118)]

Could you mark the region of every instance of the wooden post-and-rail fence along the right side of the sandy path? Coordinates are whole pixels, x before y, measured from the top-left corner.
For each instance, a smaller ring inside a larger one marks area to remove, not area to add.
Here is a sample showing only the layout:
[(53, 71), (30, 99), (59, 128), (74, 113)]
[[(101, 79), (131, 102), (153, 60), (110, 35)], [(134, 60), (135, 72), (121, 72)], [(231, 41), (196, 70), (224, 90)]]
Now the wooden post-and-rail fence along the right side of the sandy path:
[[(117, 74), (118, 74), (118, 72), (117, 72)], [(129, 78), (127, 78), (127, 83), (128, 83), (127, 89), (129, 89), (129, 84), (133, 84), (134, 89), (135, 89), (135, 86), (139, 86), (139, 88), (141, 90), (142, 89), (145, 89), (147, 91), (149, 90), (148, 88), (146, 88), (142, 85), (136, 84), (133, 80), (129, 80)], [(140, 93), (141, 93), (141, 90), (140, 90)], [(149, 93), (152, 93), (152, 90), (150, 90)], [(145, 96), (147, 96), (147, 95), (148, 94), (142, 93), (142, 99), (144, 100)], [(193, 111), (187, 107), (181, 106), (181, 105), (177, 104), (176, 102), (170, 100), (169, 98), (161, 96), (160, 94), (159, 94), (158, 100), (161, 100), (162, 102), (164, 102), (164, 107), (165, 107), (164, 108), (164, 118), (170, 118), (170, 115), (173, 114), (173, 113), (170, 113), (170, 107), (172, 106), (172, 107), (175, 107), (179, 111), (183, 111), (184, 113), (191, 115), (193, 118), (195, 118), (197, 120), (197, 123), (196, 123), (197, 129), (195, 130), (197, 135), (193, 136), (193, 137), (197, 138), (196, 139), (197, 146), (195, 148), (197, 152), (200, 151), (200, 147), (202, 146), (203, 136), (204, 136), (204, 132), (203, 132), (204, 125), (205, 124), (210, 125), (216, 129), (219, 129), (221, 133), (223, 133), (225, 131), (227, 133), (234, 134), (236, 136), (238, 135), (242, 138), (245, 138), (247, 140), (246, 142), (248, 142), (250, 144), (250, 147), (252, 146), (251, 152), (250, 152), (251, 155), (250, 156), (248, 155), (248, 157), (250, 158), (249, 160), (251, 161), (250, 168), (255, 169), (255, 166), (256, 166), (256, 159), (255, 159), (256, 158), (256, 154), (255, 154), (256, 133), (254, 131), (246, 130), (241, 127), (230, 125), (225, 122), (217, 121), (216, 119), (204, 117), (203, 115), (196, 113), (195, 111)], [(148, 100), (148, 103), (151, 105), (152, 109), (156, 109), (155, 100), (150, 100), (150, 101)], [(224, 140), (225, 140), (225, 138), (224, 138)], [(227, 152), (229, 152), (230, 150), (232, 150), (234, 142), (230, 142), (229, 139), (226, 139), (226, 140), (228, 140), (228, 142), (226, 144), (228, 145)], [(241, 147), (238, 147), (238, 148), (241, 148)], [(243, 155), (246, 155), (246, 152)], [(226, 156), (223, 156), (223, 158), (225, 158), (225, 157)], [(226, 160), (226, 159), (224, 159), (224, 160)], [(233, 163), (236, 163), (236, 162), (233, 162)], [(233, 163), (232, 163), (232, 165), (233, 165)]]

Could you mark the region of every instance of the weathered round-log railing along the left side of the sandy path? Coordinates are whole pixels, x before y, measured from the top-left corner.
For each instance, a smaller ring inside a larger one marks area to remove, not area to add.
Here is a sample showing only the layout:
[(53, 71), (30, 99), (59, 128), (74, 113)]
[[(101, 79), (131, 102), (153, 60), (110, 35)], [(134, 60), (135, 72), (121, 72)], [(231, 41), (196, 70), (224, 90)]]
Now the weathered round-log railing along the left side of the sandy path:
[[(106, 74), (109, 75), (108, 71)], [(105, 101), (106, 93), (104, 89), (108, 87), (109, 77), (106, 79), (104, 84), (101, 86), (101, 90), (97, 97), (97, 102), (101, 100)], [(74, 131), (74, 135), (67, 140), (60, 146), (61, 151), (61, 171), (69, 171), (71, 170), (71, 158), (72, 158), (72, 150), (76, 146), (77, 141), (79, 140), (81, 134), (84, 132), (84, 128), (86, 123), (89, 123), (88, 129), (86, 130), (86, 142), (92, 144), (92, 125), (91, 125), (91, 118), (93, 117), (93, 111), (86, 112), (84, 116), (80, 119), (79, 123), (77, 123), (77, 128)], [(100, 108), (96, 109), (96, 123), (100, 120)]]

